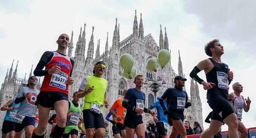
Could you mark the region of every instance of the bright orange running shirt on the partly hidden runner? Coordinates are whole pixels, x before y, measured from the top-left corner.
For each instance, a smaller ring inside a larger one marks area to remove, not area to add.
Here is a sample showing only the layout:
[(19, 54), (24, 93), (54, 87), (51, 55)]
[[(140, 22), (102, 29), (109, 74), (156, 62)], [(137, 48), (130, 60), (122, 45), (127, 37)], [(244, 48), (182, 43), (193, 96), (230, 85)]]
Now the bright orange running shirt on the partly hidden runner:
[(116, 99), (114, 104), (111, 106), (112, 110), (117, 109), (116, 115), (121, 117), (121, 121), (116, 120), (116, 123), (122, 123), (122, 124), (124, 123), (124, 119), (125, 119), (124, 115), (126, 115), (126, 108), (122, 106), (123, 99), (124, 98)]

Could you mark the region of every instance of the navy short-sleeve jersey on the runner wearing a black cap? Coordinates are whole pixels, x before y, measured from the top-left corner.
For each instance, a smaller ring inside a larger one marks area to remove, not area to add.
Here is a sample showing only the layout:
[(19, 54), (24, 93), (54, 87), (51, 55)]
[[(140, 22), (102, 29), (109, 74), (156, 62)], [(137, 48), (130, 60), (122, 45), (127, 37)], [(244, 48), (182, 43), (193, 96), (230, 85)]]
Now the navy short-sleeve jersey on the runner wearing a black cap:
[(167, 98), (168, 111), (174, 111), (178, 114), (183, 114), (185, 104), (188, 101), (187, 92), (184, 90), (180, 91), (176, 88), (168, 88), (161, 98)]

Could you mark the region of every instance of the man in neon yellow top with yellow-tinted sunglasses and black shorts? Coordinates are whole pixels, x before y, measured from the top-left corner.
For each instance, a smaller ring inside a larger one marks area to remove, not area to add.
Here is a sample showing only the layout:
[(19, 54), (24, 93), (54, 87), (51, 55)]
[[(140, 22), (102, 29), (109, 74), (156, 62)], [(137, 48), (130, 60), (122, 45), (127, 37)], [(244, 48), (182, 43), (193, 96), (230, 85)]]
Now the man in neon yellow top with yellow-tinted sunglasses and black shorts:
[(95, 131), (96, 138), (102, 138), (105, 134), (102, 106), (108, 107), (107, 102), (107, 80), (102, 78), (106, 70), (103, 61), (99, 61), (93, 68), (93, 75), (83, 79), (77, 97), (85, 97), (83, 105), (83, 119), (85, 121), (86, 138), (93, 138)]

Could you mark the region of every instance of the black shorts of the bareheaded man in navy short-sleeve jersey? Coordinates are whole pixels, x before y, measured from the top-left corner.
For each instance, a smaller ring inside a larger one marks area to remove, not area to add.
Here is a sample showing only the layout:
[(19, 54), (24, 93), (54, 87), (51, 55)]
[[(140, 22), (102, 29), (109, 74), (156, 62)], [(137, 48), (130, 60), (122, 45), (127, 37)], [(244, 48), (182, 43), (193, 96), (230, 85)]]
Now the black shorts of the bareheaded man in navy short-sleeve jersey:
[(127, 116), (127, 114), (126, 114), (124, 125), (123, 125), (124, 127), (127, 126), (128, 128), (135, 129), (136, 126), (138, 126), (139, 124), (143, 124), (141, 115), (134, 116), (134, 115), (128, 114), (128, 116)]

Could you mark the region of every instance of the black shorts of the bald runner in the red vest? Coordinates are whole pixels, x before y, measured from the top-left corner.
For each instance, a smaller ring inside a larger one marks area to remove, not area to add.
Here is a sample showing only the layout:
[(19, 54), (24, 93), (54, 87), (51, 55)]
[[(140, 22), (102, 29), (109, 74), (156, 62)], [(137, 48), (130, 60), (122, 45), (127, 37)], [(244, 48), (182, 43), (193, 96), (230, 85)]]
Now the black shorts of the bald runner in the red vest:
[(48, 91), (37, 95), (37, 103), (45, 108), (53, 107), (54, 103), (61, 100), (68, 101), (68, 95), (64, 92)]

